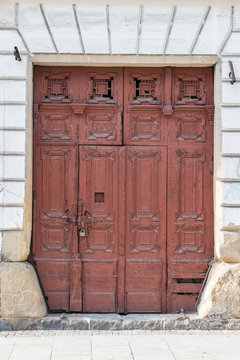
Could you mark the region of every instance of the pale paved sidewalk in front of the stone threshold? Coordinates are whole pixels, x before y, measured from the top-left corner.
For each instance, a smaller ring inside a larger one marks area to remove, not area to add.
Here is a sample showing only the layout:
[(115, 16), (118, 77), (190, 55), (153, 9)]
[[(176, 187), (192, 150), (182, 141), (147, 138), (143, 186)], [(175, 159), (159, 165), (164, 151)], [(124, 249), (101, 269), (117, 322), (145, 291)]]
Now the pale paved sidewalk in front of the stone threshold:
[(240, 330), (0, 332), (0, 360), (240, 360)]

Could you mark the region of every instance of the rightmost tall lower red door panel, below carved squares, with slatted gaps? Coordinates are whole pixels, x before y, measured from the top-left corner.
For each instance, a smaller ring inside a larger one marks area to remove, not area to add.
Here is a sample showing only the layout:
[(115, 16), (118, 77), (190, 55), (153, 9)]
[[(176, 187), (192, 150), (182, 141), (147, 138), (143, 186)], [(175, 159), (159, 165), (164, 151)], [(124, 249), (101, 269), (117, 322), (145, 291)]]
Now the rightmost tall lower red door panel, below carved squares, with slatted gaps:
[(169, 149), (168, 311), (194, 309), (212, 257), (212, 149)]

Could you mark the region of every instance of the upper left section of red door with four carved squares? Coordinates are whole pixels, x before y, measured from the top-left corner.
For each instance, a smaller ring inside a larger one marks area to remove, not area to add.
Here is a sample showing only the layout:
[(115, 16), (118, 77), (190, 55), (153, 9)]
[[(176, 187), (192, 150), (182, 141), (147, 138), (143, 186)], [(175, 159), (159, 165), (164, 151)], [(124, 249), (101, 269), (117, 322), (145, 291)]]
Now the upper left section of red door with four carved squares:
[(40, 141), (122, 144), (123, 69), (35, 68)]

